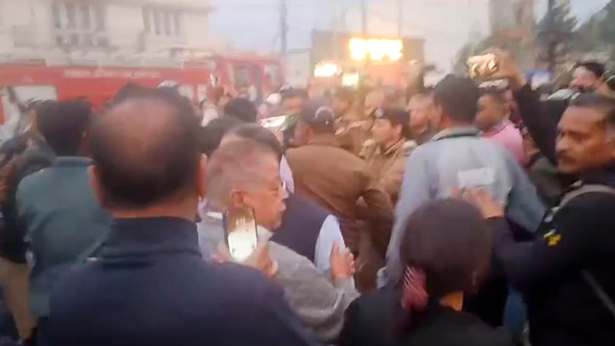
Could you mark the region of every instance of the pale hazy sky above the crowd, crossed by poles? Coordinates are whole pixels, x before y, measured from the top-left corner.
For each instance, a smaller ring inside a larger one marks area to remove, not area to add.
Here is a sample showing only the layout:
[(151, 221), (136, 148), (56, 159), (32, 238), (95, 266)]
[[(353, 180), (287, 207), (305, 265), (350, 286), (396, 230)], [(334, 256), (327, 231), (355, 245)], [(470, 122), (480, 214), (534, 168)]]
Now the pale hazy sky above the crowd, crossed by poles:
[[(375, 35), (397, 34), (399, 0), (368, 0), (368, 30)], [(428, 62), (447, 70), (471, 33), (486, 34), (488, 0), (402, 0), (403, 34), (427, 40)], [(546, 0), (536, 0), (536, 17), (546, 9)], [(609, 0), (571, 0), (574, 14), (584, 20)], [(290, 49), (308, 48), (313, 28), (333, 28), (333, 7), (346, 8), (346, 28), (360, 33), (358, 0), (287, 0)], [(210, 0), (212, 34), (229, 39), (237, 49), (279, 51), (279, 0)], [(343, 25), (342, 21), (338, 25)]]

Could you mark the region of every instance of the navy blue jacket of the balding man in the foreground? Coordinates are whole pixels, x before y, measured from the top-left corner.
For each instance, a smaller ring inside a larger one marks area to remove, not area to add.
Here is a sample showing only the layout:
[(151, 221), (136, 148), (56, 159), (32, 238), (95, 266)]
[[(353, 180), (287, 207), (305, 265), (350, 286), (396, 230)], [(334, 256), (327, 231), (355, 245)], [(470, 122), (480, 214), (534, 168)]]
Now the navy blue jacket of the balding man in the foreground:
[(96, 262), (55, 287), (58, 346), (314, 345), (282, 290), (238, 265), (199, 252), (194, 222), (114, 221)]

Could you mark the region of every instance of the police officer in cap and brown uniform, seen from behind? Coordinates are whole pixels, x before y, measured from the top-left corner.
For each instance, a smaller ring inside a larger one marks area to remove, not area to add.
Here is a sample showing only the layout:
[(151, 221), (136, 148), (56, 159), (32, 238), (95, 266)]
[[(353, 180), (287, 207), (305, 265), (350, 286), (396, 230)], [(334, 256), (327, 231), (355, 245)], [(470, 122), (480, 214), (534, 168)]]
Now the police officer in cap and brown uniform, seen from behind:
[[(355, 275), (363, 292), (375, 289), (379, 268), (371, 243), (386, 249), (391, 236), (392, 204), (375, 185), (367, 164), (340, 147), (335, 138), (333, 110), (326, 99), (307, 102), (295, 127), (296, 148), (286, 151), (295, 190), (338, 217), (346, 246), (359, 254)], [(363, 206), (358, 202), (362, 201)], [(370, 249), (370, 251), (367, 251)], [(378, 268), (376, 268), (378, 267)]]

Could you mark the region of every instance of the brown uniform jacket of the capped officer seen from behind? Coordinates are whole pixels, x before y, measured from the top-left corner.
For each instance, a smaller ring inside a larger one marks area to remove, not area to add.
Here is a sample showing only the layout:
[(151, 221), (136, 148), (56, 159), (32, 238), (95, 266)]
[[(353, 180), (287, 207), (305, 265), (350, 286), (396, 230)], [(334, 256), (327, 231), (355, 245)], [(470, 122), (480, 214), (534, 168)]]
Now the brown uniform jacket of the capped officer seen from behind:
[[(392, 222), (391, 201), (372, 185), (367, 164), (340, 148), (333, 135), (323, 135), (308, 145), (287, 150), (286, 157), (296, 193), (339, 218), (344, 242), (353, 252), (358, 249), (359, 219), (379, 224)], [(357, 207), (361, 197), (367, 208)]]

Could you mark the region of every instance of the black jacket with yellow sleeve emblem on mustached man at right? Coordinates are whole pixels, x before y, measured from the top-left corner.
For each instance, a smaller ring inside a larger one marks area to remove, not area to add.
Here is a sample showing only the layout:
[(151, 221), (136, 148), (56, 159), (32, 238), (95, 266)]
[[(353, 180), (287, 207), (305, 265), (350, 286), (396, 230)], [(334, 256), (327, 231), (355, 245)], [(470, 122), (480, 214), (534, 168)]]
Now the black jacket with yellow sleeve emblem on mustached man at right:
[[(583, 174), (582, 183), (615, 187), (615, 164)], [(614, 211), (615, 195), (577, 196), (547, 213), (526, 243), (492, 220), (496, 257), (528, 304), (533, 346), (615, 344), (615, 318), (581, 277), (587, 270), (615, 299)]]

